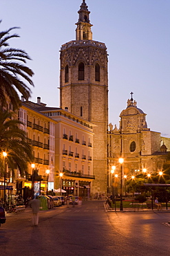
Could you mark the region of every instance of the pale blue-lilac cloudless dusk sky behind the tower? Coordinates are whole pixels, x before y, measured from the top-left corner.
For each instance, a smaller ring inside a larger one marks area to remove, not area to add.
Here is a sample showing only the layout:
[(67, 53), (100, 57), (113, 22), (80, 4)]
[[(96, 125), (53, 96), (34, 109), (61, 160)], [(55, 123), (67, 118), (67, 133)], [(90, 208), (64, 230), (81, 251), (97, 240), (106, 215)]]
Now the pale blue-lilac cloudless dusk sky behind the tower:
[[(59, 51), (76, 39), (82, 0), (1, 0), (1, 31), (14, 26), (20, 38), (10, 46), (32, 61), (32, 98), (59, 107)], [(147, 125), (170, 137), (170, 0), (86, 0), (93, 40), (108, 52), (109, 122), (119, 127), (120, 112), (134, 92)]]

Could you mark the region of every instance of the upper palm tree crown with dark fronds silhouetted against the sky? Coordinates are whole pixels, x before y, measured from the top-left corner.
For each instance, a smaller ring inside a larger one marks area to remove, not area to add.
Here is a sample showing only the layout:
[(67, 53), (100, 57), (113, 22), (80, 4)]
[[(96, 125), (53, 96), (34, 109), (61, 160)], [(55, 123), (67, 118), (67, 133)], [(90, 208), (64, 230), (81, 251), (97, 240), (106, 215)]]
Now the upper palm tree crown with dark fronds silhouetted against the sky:
[(6, 106), (6, 95), (8, 95), (14, 109), (20, 106), (18, 92), (25, 100), (30, 98), (31, 91), (25, 82), (34, 86), (30, 78), (34, 73), (24, 65), (27, 60), (31, 60), (28, 53), (11, 48), (8, 44), (9, 39), (19, 37), (17, 34), (10, 35), (10, 31), (16, 28), (0, 32), (0, 102), (1, 106)]

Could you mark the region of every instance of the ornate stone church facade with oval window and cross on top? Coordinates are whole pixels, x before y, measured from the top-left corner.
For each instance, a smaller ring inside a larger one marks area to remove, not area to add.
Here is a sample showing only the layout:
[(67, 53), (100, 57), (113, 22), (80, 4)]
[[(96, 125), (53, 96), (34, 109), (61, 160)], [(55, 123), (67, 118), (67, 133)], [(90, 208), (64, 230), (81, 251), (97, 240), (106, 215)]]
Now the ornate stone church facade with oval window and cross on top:
[[(111, 192), (111, 167), (120, 179), (120, 163), (123, 157), (123, 174), (127, 177), (142, 173), (151, 174), (162, 170), (170, 151), (170, 138), (160, 136), (160, 132), (150, 131), (147, 127), (147, 114), (137, 107), (131, 98), (127, 108), (120, 113), (120, 127), (109, 124), (107, 132), (108, 191)], [(117, 181), (120, 184), (120, 181)]]

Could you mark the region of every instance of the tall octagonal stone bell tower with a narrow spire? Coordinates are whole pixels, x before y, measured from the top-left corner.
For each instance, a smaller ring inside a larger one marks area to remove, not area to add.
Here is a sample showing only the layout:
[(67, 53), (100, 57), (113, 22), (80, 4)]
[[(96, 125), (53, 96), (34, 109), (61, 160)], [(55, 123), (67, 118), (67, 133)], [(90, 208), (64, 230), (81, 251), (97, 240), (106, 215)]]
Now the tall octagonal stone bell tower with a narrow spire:
[(92, 193), (107, 192), (108, 78), (107, 48), (92, 40), (88, 6), (83, 0), (78, 10), (76, 40), (61, 46), (61, 108), (93, 122)]

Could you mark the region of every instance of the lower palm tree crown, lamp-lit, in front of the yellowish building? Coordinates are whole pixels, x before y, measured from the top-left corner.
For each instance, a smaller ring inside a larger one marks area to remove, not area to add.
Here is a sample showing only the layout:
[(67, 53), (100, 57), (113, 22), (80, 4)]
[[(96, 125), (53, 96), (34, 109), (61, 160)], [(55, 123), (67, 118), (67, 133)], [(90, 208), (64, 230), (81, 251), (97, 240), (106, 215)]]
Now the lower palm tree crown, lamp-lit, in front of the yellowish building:
[(13, 178), (14, 170), (17, 168), (21, 176), (27, 174), (28, 163), (32, 163), (34, 159), (26, 133), (19, 129), (20, 124), (19, 120), (12, 119), (12, 113), (0, 110), (0, 165), (1, 170), (4, 170), (2, 152), (6, 152), (8, 170), (12, 171)]

